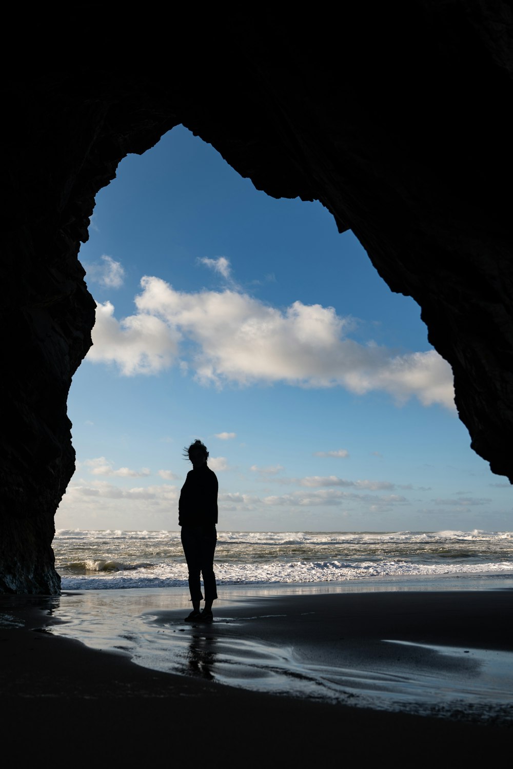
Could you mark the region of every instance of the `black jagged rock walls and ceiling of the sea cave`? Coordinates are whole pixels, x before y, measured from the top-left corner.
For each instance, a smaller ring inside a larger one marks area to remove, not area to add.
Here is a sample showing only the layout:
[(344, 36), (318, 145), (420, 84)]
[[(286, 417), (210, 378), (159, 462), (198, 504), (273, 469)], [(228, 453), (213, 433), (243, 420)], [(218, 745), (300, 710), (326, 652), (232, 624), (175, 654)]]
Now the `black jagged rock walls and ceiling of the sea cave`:
[(345, 6), (337, 28), (279, 12), (163, 26), (151, 3), (102, 24), (45, 9), (32, 42), (24, 27), (33, 63), (9, 62), (4, 103), (0, 592), (59, 591), (66, 398), (95, 312), (78, 249), (119, 161), (178, 124), (258, 189), (318, 199), (355, 232), (421, 305), (472, 448), (513, 481), (511, 7), (379, 5)]

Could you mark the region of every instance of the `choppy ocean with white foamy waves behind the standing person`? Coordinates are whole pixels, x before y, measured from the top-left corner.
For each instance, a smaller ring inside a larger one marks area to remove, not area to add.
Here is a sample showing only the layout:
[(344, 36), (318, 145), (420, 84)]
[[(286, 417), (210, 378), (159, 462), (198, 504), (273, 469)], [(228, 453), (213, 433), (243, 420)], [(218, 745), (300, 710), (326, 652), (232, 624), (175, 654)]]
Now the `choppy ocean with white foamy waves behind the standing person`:
[[(75, 531), (53, 541), (62, 590), (187, 588), (179, 531)], [(218, 531), (218, 586), (513, 572), (511, 531)]]

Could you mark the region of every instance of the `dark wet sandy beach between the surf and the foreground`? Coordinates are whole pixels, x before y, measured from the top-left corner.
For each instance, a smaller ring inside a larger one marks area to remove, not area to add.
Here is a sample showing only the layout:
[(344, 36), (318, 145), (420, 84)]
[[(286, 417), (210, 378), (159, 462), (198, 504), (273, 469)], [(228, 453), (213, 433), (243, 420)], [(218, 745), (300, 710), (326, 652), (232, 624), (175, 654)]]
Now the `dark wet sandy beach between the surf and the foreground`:
[[(0, 596), (22, 764), (461, 764), (511, 743), (511, 590), (224, 591), (205, 626), (184, 623), (183, 591), (85, 592)], [(74, 615), (97, 648), (55, 634)]]

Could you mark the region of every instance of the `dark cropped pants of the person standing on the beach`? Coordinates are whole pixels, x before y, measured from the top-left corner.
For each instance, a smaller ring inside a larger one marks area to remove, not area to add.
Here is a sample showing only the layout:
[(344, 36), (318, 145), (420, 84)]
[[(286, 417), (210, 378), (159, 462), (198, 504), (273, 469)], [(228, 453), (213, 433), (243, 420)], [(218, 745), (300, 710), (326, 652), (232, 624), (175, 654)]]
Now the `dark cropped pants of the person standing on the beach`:
[(182, 547), (188, 568), (188, 587), (191, 601), (201, 601), (203, 577), (205, 601), (218, 597), (214, 574), (214, 552), (217, 543), (215, 526), (182, 526)]

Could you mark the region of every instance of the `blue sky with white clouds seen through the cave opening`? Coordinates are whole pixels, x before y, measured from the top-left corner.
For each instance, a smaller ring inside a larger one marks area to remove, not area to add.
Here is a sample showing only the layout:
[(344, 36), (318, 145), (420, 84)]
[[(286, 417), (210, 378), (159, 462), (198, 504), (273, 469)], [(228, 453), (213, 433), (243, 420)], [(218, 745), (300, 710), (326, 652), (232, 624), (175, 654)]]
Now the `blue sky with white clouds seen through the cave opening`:
[(97, 302), (55, 526), (178, 530), (208, 447), (221, 531), (508, 531), (420, 308), (318, 201), (270, 198), (178, 126), (100, 191)]

